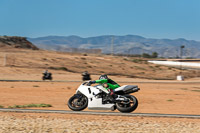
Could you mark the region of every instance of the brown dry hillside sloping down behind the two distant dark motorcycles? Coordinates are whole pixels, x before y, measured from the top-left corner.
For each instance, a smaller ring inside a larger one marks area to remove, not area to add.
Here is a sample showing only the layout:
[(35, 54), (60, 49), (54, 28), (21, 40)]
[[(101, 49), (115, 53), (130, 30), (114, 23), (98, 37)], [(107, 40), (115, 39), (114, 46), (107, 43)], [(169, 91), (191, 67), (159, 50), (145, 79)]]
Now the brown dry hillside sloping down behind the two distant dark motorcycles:
[[(175, 67), (151, 64), (145, 58), (25, 49), (0, 49), (0, 66), (1, 79), (6, 77), (16, 79), (26, 75), (27, 79), (40, 80), (45, 69), (53, 72), (53, 77), (57, 75), (58, 78), (54, 80), (71, 80), (72, 77), (69, 79), (67, 75), (80, 76), (86, 70), (98, 76), (106, 73), (117, 77), (158, 80), (176, 79), (180, 73)], [(182, 73), (185, 78), (200, 75), (198, 70), (183, 70)]]

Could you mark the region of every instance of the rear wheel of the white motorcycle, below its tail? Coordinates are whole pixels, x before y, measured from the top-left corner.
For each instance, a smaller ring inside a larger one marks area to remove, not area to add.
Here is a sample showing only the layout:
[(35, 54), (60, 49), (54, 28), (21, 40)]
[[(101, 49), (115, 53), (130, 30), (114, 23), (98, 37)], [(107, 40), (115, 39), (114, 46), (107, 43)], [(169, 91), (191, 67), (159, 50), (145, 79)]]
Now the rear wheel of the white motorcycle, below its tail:
[(125, 95), (126, 98), (129, 99), (128, 102), (121, 101), (120, 103), (116, 103), (117, 110), (123, 113), (130, 113), (134, 111), (138, 106), (138, 100), (136, 97), (132, 95)]

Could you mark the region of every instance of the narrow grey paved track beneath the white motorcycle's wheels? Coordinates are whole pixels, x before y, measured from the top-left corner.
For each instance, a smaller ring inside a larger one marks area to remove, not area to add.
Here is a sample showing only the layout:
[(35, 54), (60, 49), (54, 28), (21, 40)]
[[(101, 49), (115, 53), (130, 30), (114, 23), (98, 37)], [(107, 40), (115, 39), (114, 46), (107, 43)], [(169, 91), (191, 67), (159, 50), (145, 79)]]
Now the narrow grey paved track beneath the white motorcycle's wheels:
[(18, 112), (18, 113), (58, 113), (58, 114), (80, 114), (80, 115), (109, 115), (109, 116), (128, 116), (128, 117), (167, 117), (167, 118), (200, 119), (200, 115), (187, 115), (187, 114), (120, 113), (120, 112), (92, 112), (92, 111), (39, 110), (39, 109), (7, 109), (7, 108), (0, 108), (0, 111), (1, 112)]

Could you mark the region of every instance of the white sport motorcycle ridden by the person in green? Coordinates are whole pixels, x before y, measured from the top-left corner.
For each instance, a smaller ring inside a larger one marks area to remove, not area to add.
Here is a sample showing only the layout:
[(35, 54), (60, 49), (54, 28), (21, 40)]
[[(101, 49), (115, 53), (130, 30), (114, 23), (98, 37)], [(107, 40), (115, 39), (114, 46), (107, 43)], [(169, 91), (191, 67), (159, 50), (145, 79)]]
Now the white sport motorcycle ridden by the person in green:
[(69, 98), (68, 107), (73, 111), (81, 111), (88, 107), (91, 110), (118, 110), (123, 113), (130, 113), (138, 106), (135, 96), (129, 95), (139, 91), (137, 85), (123, 85), (114, 90), (117, 95), (113, 98), (104, 84), (91, 86), (89, 82), (82, 83), (76, 93)]

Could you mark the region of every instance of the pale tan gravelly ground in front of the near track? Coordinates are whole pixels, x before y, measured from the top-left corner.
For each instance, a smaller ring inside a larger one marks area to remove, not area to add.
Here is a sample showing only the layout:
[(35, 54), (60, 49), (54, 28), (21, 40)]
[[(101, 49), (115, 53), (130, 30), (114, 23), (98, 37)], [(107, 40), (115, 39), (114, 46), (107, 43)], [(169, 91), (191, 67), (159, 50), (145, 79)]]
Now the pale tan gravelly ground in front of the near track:
[(0, 133), (199, 133), (199, 119), (0, 113)]

